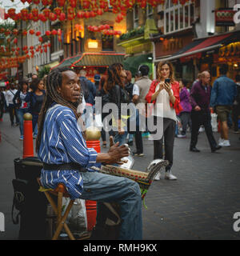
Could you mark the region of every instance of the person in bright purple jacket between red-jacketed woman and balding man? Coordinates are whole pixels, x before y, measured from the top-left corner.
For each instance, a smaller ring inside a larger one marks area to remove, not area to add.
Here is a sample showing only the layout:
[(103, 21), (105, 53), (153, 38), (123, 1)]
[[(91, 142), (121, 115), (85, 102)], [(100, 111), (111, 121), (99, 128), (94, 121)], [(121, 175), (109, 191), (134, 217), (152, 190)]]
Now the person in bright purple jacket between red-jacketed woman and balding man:
[(178, 134), (178, 138), (186, 138), (186, 129), (187, 126), (190, 127), (191, 130), (191, 110), (192, 106), (190, 104), (190, 94), (186, 89), (186, 86), (183, 84), (182, 80), (179, 81), (179, 91), (180, 91), (180, 105), (182, 106), (182, 111), (179, 114), (179, 118), (182, 123), (182, 131), (181, 134)]

